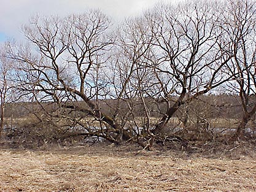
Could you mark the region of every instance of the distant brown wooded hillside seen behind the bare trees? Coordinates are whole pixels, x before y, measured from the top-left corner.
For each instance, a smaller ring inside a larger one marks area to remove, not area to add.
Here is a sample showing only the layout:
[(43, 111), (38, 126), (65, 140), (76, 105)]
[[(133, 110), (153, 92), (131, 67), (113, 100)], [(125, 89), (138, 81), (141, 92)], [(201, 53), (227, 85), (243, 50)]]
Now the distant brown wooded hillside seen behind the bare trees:
[[(173, 97), (174, 101), (176, 97)], [(147, 107), (150, 109), (151, 117), (161, 117), (163, 113), (166, 112), (165, 101), (160, 99), (145, 98)], [(115, 109), (116, 100), (106, 99), (99, 101), (101, 110), (107, 115), (112, 116)], [(134, 101), (136, 102), (136, 101)], [(256, 96), (250, 96), (250, 104), (254, 105), (256, 102)], [(85, 105), (84, 102), (76, 102), (79, 105)], [(69, 103), (70, 104), (70, 103)], [(60, 107), (65, 107), (67, 103), (56, 104), (55, 102), (42, 102), (38, 104), (37, 102), (18, 102), (10, 103), (6, 105), (4, 117), (6, 118), (21, 118), (27, 117), (31, 113), (44, 113), (43, 108), (47, 109), (48, 112), (54, 112)], [(142, 103), (137, 101), (135, 104), (136, 109), (134, 113), (137, 117), (143, 116)], [(87, 107), (87, 106), (84, 106)], [(125, 101), (121, 104), (121, 113), (128, 112)], [(1, 113), (1, 112), (0, 112)], [(184, 113), (196, 117), (196, 114), (202, 114), (205, 118), (227, 118), (227, 119), (239, 119), (242, 116), (242, 107), (239, 102), (238, 95), (231, 94), (209, 94), (200, 96), (193, 102), (185, 104), (180, 107), (173, 117), (182, 117)]]

